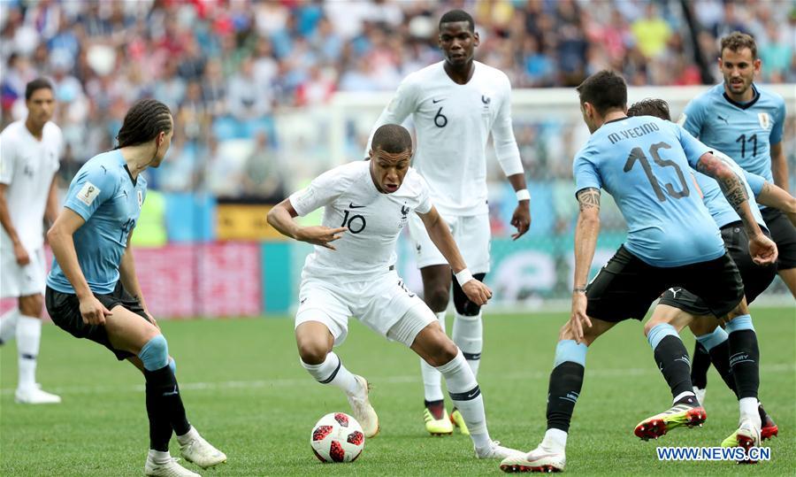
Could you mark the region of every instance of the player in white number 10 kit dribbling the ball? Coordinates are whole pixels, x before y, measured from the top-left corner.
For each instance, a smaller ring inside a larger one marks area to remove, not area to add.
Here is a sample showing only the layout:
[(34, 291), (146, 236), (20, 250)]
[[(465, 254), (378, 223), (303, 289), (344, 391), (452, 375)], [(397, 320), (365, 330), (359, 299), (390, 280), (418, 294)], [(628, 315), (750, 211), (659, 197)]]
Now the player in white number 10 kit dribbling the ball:
[[(368, 400), (367, 381), (348, 371), (333, 352), (348, 334), (348, 317), (355, 316), (440, 371), (471, 431), (477, 458), (505, 458), (516, 451), (489, 437), (483, 397), (462, 351), (395, 272), (395, 242), (409, 214), (417, 213), (464, 293), (478, 305), (492, 296), (486, 285), (472, 278), (448, 226), (429, 200), (428, 186), (409, 168), (411, 156), (409, 132), (384, 125), (373, 136), (370, 160), (321, 174), (268, 213), (268, 223), (281, 234), (315, 245), (302, 270), (295, 316), (302, 365), (318, 382), (345, 392), (365, 437), (376, 435), (379, 418)], [(319, 207), (325, 208), (322, 226), (296, 224), (296, 216)]]

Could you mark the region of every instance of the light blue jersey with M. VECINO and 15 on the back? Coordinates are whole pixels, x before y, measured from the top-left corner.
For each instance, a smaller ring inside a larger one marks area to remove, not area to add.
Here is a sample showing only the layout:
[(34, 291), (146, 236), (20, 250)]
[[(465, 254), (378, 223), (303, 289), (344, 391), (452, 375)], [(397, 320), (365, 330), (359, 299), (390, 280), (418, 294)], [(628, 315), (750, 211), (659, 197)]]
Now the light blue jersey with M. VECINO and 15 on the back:
[(647, 264), (713, 260), (724, 254), (724, 243), (690, 175), (709, 151), (670, 121), (616, 119), (575, 156), (576, 190), (604, 188), (614, 197), (627, 221), (624, 246)]

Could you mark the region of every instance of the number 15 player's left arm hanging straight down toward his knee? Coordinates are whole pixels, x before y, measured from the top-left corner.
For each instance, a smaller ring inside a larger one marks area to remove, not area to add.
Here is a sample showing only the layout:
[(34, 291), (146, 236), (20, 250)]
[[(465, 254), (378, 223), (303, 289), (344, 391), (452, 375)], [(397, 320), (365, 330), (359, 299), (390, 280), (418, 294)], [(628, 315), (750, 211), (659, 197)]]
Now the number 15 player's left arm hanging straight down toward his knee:
[(575, 227), (575, 286), (572, 289), (571, 329), (575, 331), (575, 341), (583, 341), (583, 326), (592, 327), (592, 320), (586, 315), (586, 283), (592, 267), (597, 236), (600, 235), (600, 189), (583, 188), (576, 194), (580, 212)]

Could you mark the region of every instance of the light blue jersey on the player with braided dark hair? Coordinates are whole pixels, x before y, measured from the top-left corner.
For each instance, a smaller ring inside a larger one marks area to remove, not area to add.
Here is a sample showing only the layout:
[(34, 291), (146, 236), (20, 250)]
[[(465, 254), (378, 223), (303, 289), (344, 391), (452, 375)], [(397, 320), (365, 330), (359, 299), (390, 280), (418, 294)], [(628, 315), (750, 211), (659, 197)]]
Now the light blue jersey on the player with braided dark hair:
[[(64, 206), (86, 220), (73, 235), (74, 249), (94, 293), (109, 294), (119, 281), (127, 235), (138, 221), (146, 195), (146, 179), (139, 174), (133, 181), (119, 150), (89, 159), (69, 185)], [(47, 285), (61, 293), (74, 293), (55, 258)]]

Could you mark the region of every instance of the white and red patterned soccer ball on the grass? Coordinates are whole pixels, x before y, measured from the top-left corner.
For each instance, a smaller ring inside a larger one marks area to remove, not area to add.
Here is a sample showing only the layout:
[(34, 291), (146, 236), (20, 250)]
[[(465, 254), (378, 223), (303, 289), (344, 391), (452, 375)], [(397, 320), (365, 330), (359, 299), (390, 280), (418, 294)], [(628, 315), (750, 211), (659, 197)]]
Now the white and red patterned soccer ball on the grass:
[(364, 434), (356, 419), (332, 412), (312, 427), (310, 445), (321, 462), (353, 462), (364, 448)]

